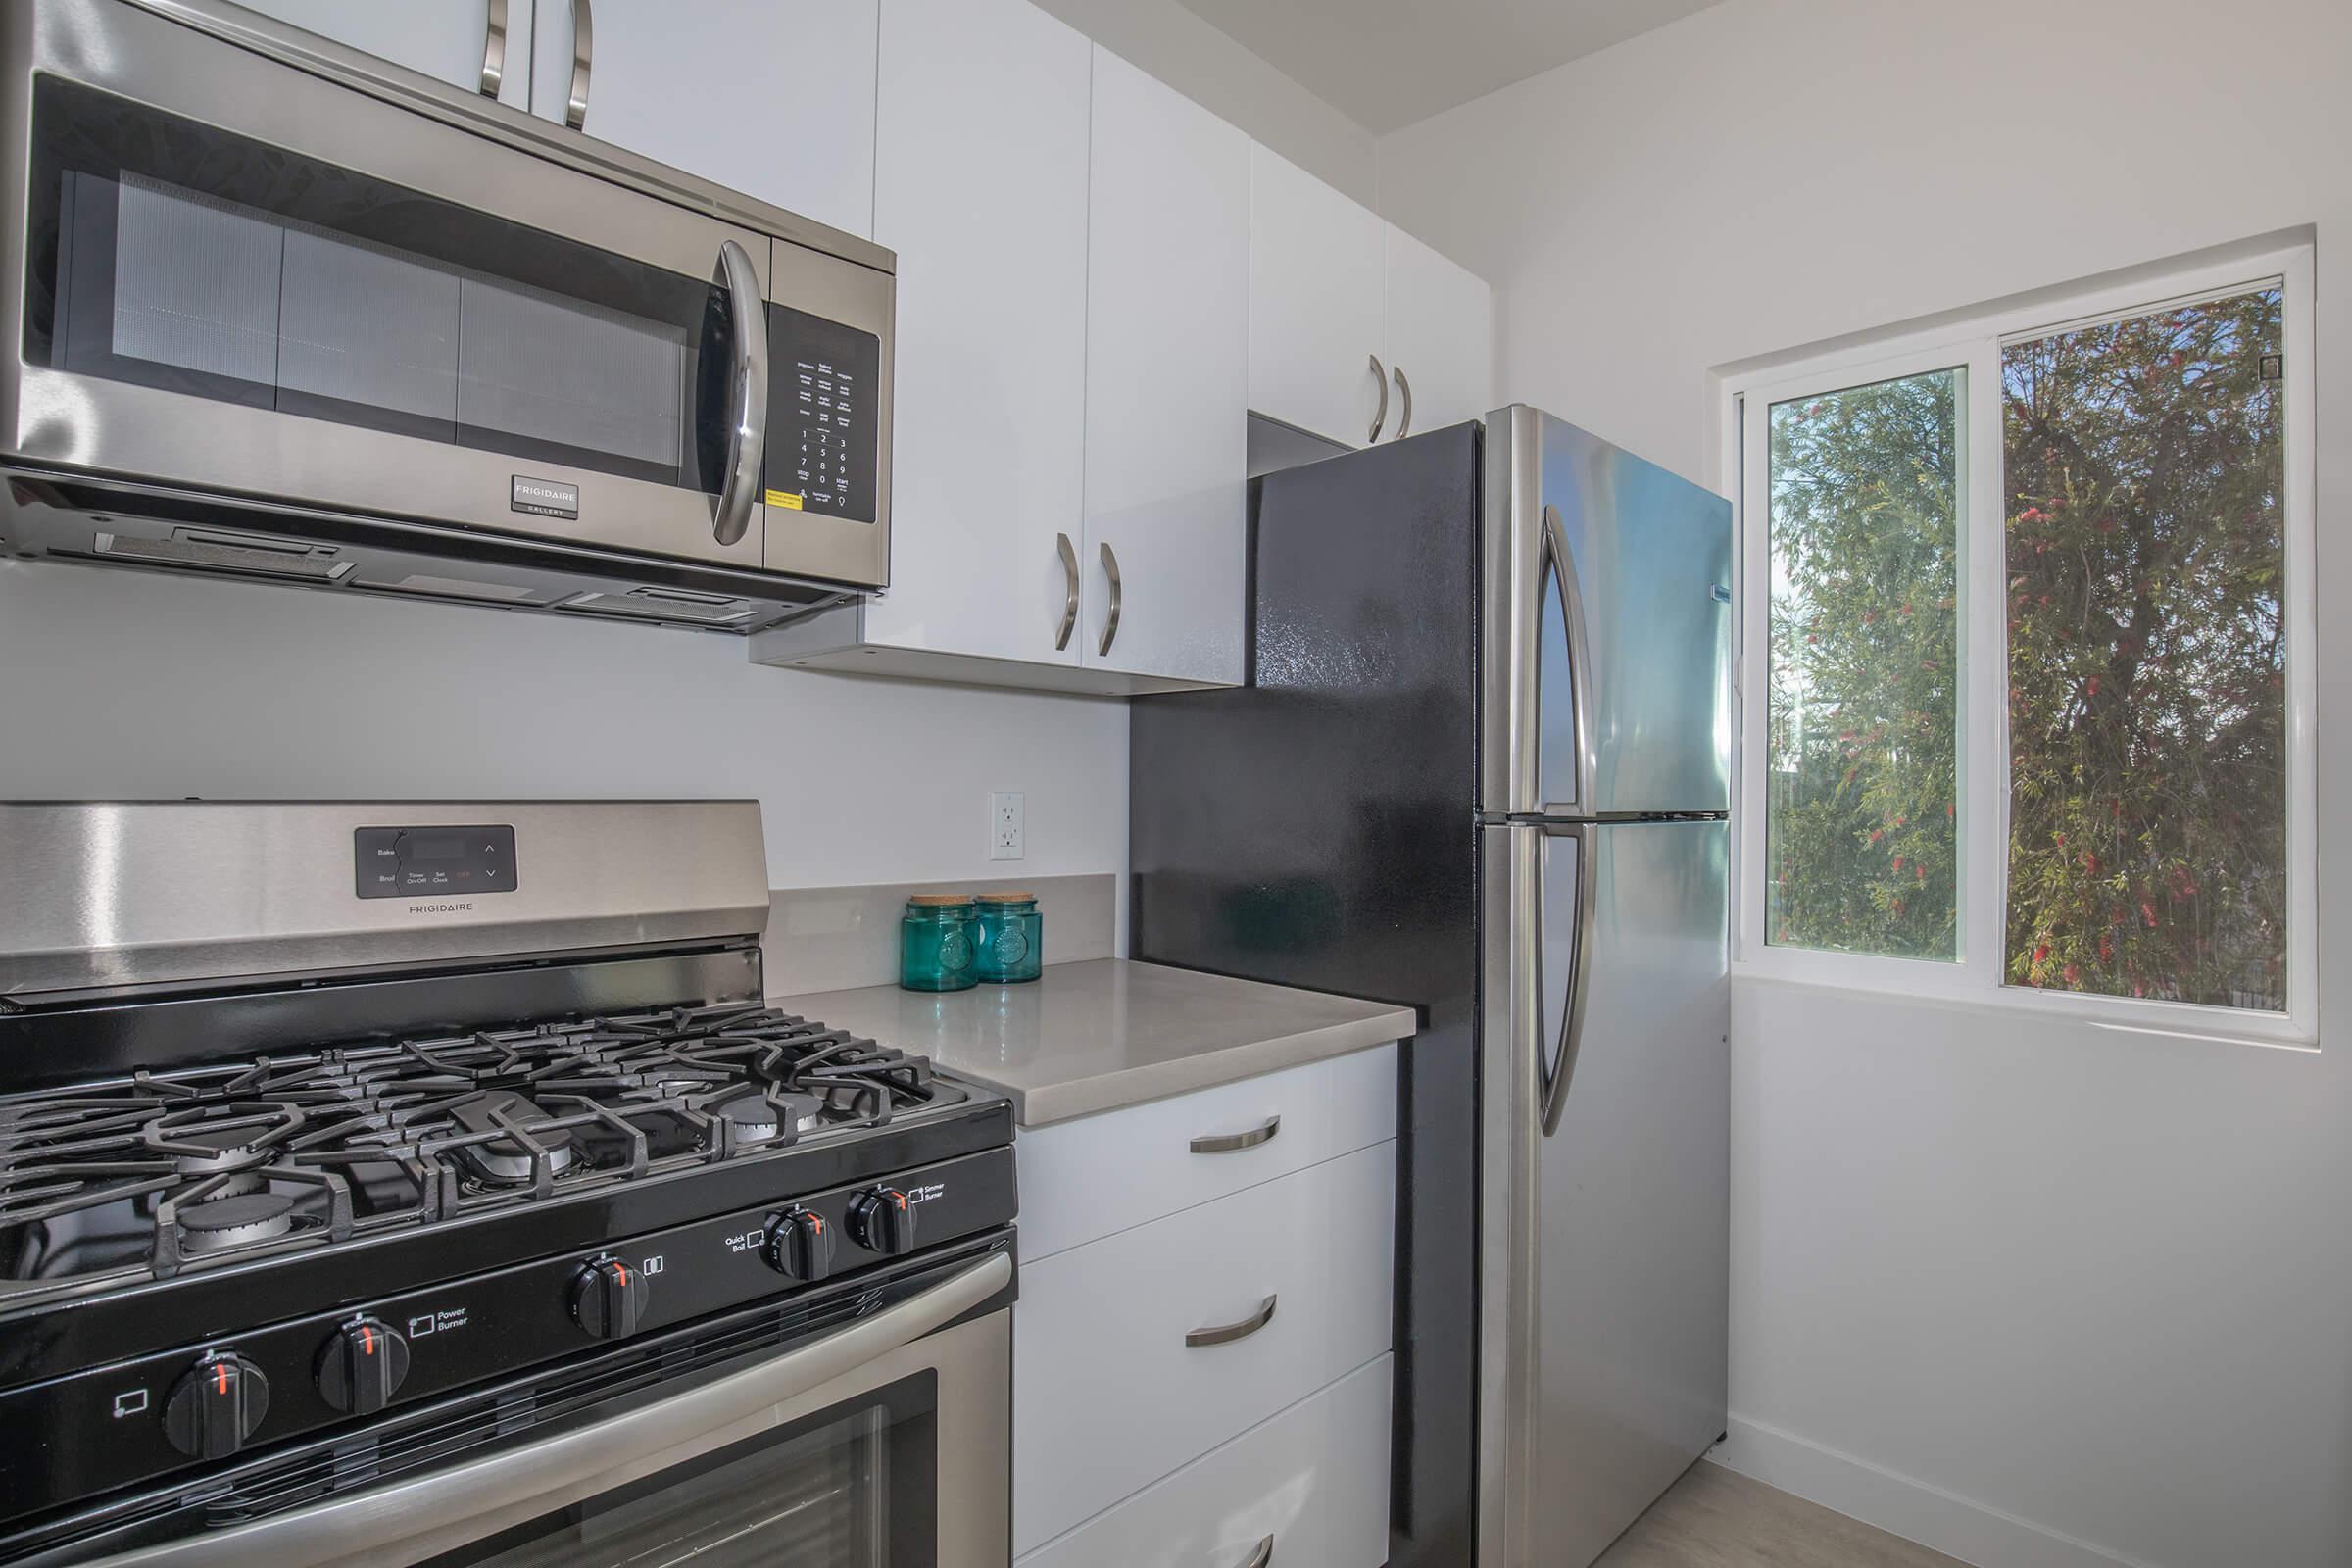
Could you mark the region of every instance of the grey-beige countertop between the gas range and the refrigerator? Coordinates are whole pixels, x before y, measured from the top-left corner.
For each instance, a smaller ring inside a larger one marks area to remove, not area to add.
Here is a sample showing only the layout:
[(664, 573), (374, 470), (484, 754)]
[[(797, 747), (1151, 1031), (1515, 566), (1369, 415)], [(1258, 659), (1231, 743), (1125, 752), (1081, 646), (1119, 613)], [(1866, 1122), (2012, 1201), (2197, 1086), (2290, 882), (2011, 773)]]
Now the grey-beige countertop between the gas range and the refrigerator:
[(1190, 969), (1089, 959), (1025, 985), (868, 985), (774, 997), (804, 1018), (929, 1056), (1044, 1126), (1254, 1079), (1414, 1034), (1414, 1011)]

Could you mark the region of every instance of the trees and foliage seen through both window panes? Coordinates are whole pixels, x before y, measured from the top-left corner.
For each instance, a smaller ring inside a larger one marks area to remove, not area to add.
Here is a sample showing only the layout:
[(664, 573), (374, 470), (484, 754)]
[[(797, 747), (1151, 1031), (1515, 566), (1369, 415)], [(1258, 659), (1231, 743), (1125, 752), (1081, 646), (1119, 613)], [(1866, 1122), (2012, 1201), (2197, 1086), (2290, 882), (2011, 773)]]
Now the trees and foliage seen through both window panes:
[[(2286, 1006), (2281, 317), (2002, 348), (2011, 985)], [(1962, 369), (1771, 407), (1776, 945), (1959, 957), (1964, 407)]]

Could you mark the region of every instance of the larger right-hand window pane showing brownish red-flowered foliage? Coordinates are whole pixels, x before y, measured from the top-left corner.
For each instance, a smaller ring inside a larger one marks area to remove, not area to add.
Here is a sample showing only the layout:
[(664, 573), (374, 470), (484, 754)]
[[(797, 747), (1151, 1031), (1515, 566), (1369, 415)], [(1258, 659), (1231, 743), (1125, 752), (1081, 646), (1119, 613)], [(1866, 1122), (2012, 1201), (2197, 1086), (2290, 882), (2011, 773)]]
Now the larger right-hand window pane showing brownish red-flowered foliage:
[(2002, 350), (2009, 980), (2286, 1006), (2281, 294)]

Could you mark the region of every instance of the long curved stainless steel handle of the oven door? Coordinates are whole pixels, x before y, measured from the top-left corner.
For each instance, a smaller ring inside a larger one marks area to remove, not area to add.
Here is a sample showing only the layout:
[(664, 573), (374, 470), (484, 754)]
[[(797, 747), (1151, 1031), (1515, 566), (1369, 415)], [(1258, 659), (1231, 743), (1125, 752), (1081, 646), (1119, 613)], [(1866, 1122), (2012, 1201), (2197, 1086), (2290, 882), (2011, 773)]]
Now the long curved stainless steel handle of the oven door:
[(296, 1514), (122, 1552), (101, 1559), (94, 1568), (146, 1568), (148, 1563), (172, 1563), (172, 1568), (209, 1568), (214, 1563), (223, 1568), (230, 1563), (238, 1568), (313, 1568), (315, 1563), (346, 1561), (355, 1549), (386, 1552), (405, 1537), (440, 1535), (454, 1523), (536, 1500), (548, 1500), (550, 1509), (564, 1507), (602, 1490), (595, 1481), (633, 1460), (722, 1432), (946, 1328), (1011, 1281), (1011, 1253), (993, 1253), (922, 1295), (884, 1307), (814, 1345), (640, 1410), (522, 1448), (487, 1453), (456, 1469), (435, 1469), (320, 1502)]

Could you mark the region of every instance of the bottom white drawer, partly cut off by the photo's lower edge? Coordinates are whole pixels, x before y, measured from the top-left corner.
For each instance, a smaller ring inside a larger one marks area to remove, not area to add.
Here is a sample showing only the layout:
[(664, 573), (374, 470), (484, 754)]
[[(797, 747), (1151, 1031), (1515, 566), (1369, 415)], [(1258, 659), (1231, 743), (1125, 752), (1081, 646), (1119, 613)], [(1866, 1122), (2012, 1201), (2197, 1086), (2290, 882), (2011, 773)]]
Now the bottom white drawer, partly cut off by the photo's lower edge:
[(1268, 1535), (1284, 1568), (1378, 1568), (1392, 1378), (1390, 1356), (1359, 1366), (1018, 1568), (1244, 1568)]

